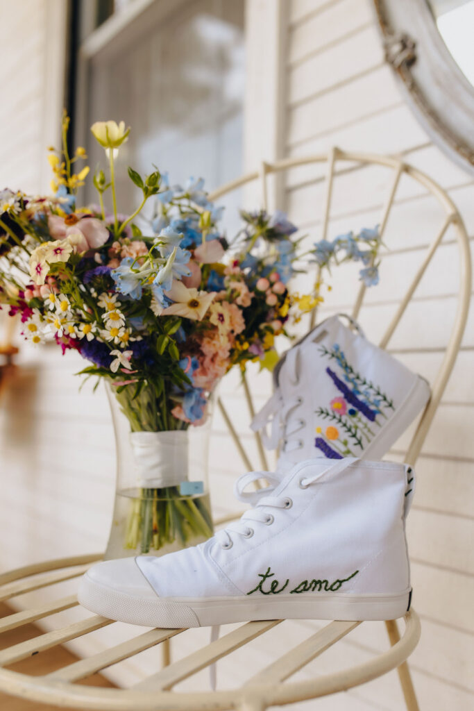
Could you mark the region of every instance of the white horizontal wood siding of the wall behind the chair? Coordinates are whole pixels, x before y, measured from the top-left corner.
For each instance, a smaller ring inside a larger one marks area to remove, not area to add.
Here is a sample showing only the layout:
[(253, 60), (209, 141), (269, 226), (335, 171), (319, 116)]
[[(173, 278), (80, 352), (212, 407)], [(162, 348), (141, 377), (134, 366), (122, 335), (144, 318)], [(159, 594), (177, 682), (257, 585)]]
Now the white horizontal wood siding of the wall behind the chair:
[[(8, 61), (4, 80), (9, 82), (10, 100), (0, 112), (0, 182), (33, 191), (41, 188), (43, 145), (50, 142), (41, 134), (38, 119), (44, 110), (47, 6), (48, 2), (41, 0), (0, 2), (4, 37), (15, 38), (15, 45), (22, 50), (20, 54), (14, 47), (9, 51), (4, 48)], [(264, 51), (259, 43), (268, 31), (264, 23), (257, 23), (263, 22), (268, 4), (251, 0), (248, 7), (247, 88), (249, 100), (255, 102), (259, 92), (255, 82), (252, 84), (252, 68)], [(325, 151), (333, 144), (343, 149), (401, 153), (448, 189), (470, 235), (474, 235), (473, 181), (431, 144), (404, 105), (392, 73), (383, 63), (370, 1), (287, 0), (283, 7), (287, 17), (280, 61), (286, 73), (280, 80), (281, 87), (286, 87), (286, 102), (276, 117), (279, 125), (262, 143), (256, 137), (264, 130), (262, 116), (255, 106), (253, 113), (247, 114), (249, 165), (253, 167), (260, 159)], [(281, 30), (276, 20), (274, 27)], [(270, 50), (274, 53), (273, 42)], [(268, 71), (271, 73), (271, 67)], [(257, 80), (265, 86), (262, 74)], [(265, 92), (267, 100), (278, 107), (276, 88), (266, 86)], [(252, 125), (257, 127), (253, 134)], [(322, 175), (323, 170), (315, 166), (302, 168), (291, 171), (286, 183), (283, 207), (308, 232), (308, 239), (317, 237), (321, 229)], [(386, 191), (387, 171), (383, 169), (343, 173), (336, 183), (330, 235), (374, 225)], [(386, 240), (392, 253), (382, 269), (379, 287), (367, 293), (361, 314), (370, 336), (376, 338), (381, 333), (409, 274), (416, 269), (421, 247), (433, 236), (440, 220), (441, 210), (433, 198), (414, 183), (402, 181), (387, 225)], [(445, 242), (390, 343), (407, 365), (428, 377), (436, 373), (441, 360), (458, 284), (452, 235), (446, 235)], [(348, 287), (346, 276), (343, 270), (334, 274), (334, 289), (323, 311), (350, 305), (352, 287)], [(414, 605), (423, 626), (411, 668), (421, 708), (433, 711), (473, 705), (473, 675), (468, 669), (474, 656), (473, 351), (471, 315), (460, 357), (419, 460), (418, 490), (409, 520)], [(62, 358), (53, 346), (32, 351), (22, 344), (20, 363), (22, 368), (0, 409), (1, 570), (40, 558), (102, 549), (114, 492), (114, 444), (107, 402), (103, 392), (92, 395), (87, 387), (79, 394), (79, 382), (72, 373), (79, 370), (80, 358)], [(251, 382), (257, 404), (264, 402), (269, 378), (252, 376)], [(245, 446), (254, 465), (259, 466), (237, 385), (237, 373), (229, 375), (221, 394), (236, 413)], [(240, 508), (232, 499), (232, 483), (242, 470), (218, 414), (213, 443), (212, 498), (215, 513), (220, 515)], [(402, 445), (397, 444), (394, 456), (400, 456)], [(21, 604), (43, 599), (42, 595), (40, 591), (28, 595)], [(58, 625), (77, 614), (65, 611), (53, 621)], [(250, 669), (254, 673), (269, 662), (274, 648), (283, 650), (307, 634), (308, 626), (316, 629), (318, 623), (287, 622), (237, 652), (232, 665), (222, 662), (220, 686), (244, 680)], [(115, 625), (78, 641), (76, 648), (82, 653), (97, 651), (129, 634), (127, 626)], [(173, 654), (182, 656), (197, 641), (208, 641), (208, 631), (193, 630), (173, 641)], [(360, 663), (386, 647), (384, 626), (364, 624), (303, 670), (301, 678)], [(157, 650), (149, 650), (134, 661), (116, 665), (110, 674), (120, 683), (132, 683), (156, 670), (159, 658)], [(204, 688), (207, 683), (206, 673), (200, 673), (180, 686)], [(395, 673), (350, 693), (298, 705), (325, 711), (399, 711), (403, 707)]]

